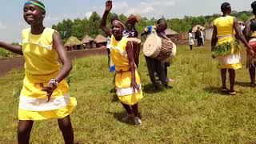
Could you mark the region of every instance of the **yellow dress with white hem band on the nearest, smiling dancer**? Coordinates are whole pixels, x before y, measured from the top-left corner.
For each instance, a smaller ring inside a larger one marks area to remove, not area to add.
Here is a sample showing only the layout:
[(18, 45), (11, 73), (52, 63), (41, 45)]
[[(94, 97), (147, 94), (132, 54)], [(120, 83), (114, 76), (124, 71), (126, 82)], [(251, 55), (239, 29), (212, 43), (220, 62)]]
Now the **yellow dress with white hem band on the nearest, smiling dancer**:
[(45, 28), (42, 34), (31, 34), (30, 29), (22, 30), (22, 52), (25, 59), (25, 73), (19, 99), (19, 120), (43, 120), (47, 118), (64, 118), (71, 114), (77, 102), (70, 97), (66, 80), (58, 84), (47, 102), (47, 86), (56, 78), (61, 69), (58, 53), (53, 47), (55, 30)]

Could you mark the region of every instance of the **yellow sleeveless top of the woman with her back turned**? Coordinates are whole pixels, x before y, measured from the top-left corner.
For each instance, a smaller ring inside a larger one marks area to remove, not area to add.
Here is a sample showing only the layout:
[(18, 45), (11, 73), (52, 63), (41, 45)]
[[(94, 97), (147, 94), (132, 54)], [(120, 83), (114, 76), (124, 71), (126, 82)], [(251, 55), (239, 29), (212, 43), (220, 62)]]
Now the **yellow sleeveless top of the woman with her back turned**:
[(232, 16), (220, 17), (214, 20), (214, 26), (217, 28), (218, 45), (235, 40), (233, 25), (234, 17)]

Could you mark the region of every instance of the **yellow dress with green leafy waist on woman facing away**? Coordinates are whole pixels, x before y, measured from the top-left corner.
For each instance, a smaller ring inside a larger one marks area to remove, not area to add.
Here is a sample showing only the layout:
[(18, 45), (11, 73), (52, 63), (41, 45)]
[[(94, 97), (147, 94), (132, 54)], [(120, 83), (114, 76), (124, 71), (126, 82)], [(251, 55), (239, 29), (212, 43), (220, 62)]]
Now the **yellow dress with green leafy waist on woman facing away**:
[[(217, 59), (219, 68), (237, 70), (242, 67), (240, 47), (234, 37), (234, 17), (226, 16), (214, 20), (214, 26), (217, 28), (218, 49)], [(224, 49), (224, 50), (223, 50)]]

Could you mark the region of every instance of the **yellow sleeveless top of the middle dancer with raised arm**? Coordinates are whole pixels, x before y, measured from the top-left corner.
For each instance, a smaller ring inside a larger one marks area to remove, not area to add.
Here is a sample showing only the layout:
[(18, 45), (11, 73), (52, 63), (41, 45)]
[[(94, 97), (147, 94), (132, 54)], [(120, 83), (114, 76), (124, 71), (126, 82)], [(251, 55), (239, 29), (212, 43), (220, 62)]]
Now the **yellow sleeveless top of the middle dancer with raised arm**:
[(115, 65), (115, 69), (117, 71), (130, 70), (129, 60), (126, 52), (126, 44), (128, 42), (128, 38), (122, 37), (120, 41), (117, 41), (114, 38), (114, 35), (111, 36), (111, 59)]

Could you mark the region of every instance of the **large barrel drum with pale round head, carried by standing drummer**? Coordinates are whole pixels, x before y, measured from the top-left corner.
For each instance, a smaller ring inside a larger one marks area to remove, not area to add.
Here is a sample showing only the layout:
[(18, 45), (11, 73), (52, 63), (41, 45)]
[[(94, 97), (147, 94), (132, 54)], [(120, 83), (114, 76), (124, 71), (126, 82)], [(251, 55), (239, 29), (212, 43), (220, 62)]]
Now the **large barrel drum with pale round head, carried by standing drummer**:
[(162, 62), (170, 62), (176, 54), (176, 45), (169, 38), (160, 38), (156, 34), (151, 34), (144, 42), (143, 54)]

